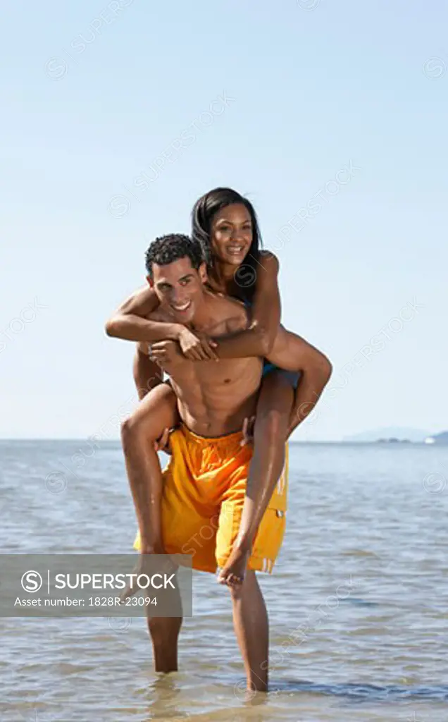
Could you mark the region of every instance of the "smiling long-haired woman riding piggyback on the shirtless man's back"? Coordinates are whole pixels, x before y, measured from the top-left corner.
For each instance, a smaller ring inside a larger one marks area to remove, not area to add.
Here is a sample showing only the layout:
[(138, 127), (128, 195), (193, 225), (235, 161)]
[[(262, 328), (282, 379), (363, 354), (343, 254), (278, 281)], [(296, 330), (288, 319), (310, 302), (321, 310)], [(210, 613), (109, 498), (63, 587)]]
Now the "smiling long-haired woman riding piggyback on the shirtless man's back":
[[(159, 384), (160, 370), (148, 358), (148, 342), (175, 340), (193, 361), (268, 357), (253, 425), (254, 451), (240, 533), (219, 574), (221, 583), (236, 586), (242, 583), (255, 532), (281, 475), (286, 439), (315, 406), (330, 378), (331, 366), (317, 349), (280, 325), (278, 259), (260, 250), (258, 221), (250, 201), (230, 188), (216, 188), (196, 202), (192, 221), (193, 239), (201, 243), (206, 257), (209, 286), (245, 303), (250, 309), (249, 329), (216, 343), (179, 324), (144, 320), (158, 303), (147, 288), (123, 304), (106, 330), (111, 336), (145, 339), (134, 363), (136, 386), (145, 398), (134, 417), (146, 443), (162, 439), (163, 445), (167, 429), (177, 424), (175, 393), (169, 385)], [(153, 357), (157, 360), (156, 351)], [(297, 387), (299, 372), (302, 379)], [(145, 395), (146, 389), (154, 386)], [(135, 427), (132, 417), (123, 425), (125, 447)]]

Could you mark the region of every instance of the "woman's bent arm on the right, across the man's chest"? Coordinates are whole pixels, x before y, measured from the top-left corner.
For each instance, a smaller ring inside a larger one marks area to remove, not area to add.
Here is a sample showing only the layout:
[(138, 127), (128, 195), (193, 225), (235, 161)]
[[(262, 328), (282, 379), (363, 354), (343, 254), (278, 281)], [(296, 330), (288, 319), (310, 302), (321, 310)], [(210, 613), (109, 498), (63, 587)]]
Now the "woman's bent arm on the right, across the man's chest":
[(255, 283), (250, 326), (218, 340), (216, 355), (221, 359), (267, 356), (273, 347), (281, 315), (278, 258), (273, 253), (260, 254)]

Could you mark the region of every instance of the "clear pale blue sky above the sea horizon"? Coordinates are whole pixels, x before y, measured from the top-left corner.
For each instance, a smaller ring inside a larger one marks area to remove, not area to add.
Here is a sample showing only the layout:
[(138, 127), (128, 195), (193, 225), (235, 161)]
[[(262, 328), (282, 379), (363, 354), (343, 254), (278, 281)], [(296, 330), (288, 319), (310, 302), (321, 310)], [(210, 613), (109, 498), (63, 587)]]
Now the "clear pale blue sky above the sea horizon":
[(255, 204), (284, 324), (335, 368), (296, 438), (448, 427), (441, 0), (17, 0), (3, 14), (1, 437), (117, 437), (133, 348), (105, 320), (144, 281), (149, 241), (188, 232), (218, 185)]

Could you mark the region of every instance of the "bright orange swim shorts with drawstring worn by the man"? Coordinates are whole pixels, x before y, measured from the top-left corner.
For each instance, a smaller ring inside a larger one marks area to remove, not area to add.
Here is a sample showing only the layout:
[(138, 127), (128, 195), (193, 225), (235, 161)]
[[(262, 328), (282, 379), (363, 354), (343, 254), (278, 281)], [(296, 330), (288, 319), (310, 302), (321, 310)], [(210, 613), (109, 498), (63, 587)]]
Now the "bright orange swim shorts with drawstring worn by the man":
[[(162, 535), (167, 554), (191, 554), (193, 569), (224, 566), (240, 529), (252, 447), (242, 432), (204, 438), (181, 426), (170, 436), (172, 456), (163, 471)], [(271, 573), (283, 541), (288, 487), (284, 470), (258, 527), (248, 568)], [(137, 534), (134, 549), (140, 549)]]

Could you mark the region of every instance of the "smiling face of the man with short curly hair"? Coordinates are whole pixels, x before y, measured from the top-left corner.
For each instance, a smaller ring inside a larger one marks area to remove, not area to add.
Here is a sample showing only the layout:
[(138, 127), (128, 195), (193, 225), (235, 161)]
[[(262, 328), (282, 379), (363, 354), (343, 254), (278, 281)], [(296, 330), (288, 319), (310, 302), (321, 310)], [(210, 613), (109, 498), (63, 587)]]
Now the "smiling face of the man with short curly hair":
[(172, 264), (152, 264), (149, 284), (157, 294), (160, 305), (170, 311), (176, 323), (193, 321), (198, 305), (203, 301), (203, 283), (206, 280), (206, 264), (196, 270), (190, 258), (179, 258)]

